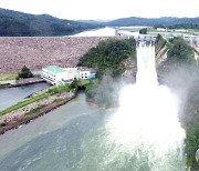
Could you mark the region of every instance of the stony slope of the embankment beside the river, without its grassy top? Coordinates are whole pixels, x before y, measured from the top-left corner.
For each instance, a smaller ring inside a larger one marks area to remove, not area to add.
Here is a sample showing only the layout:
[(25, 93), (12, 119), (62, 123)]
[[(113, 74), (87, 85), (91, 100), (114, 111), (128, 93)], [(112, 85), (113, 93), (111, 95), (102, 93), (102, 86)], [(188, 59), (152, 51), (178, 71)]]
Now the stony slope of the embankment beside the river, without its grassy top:
[(0, 117), (0, 134), (11, 129), (17, 129), (22, 124), (27, 124), (31, 120), (67, 103), (76, 97), (76, 93), (77, 90), (57, 93)]

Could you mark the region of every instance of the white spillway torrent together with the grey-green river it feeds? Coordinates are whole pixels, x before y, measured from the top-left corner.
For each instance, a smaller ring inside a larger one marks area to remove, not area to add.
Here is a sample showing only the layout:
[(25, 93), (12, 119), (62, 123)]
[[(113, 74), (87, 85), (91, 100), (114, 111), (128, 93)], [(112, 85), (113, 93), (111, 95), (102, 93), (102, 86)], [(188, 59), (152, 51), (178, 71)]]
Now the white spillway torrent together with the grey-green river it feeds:
[(118, 109), (100, 109), (78, 94), (1, 135), (0, 170), (184, 171), (178, 99), (157, 84), (154, 49), (137, 53), (138, 82), (122, 90)]

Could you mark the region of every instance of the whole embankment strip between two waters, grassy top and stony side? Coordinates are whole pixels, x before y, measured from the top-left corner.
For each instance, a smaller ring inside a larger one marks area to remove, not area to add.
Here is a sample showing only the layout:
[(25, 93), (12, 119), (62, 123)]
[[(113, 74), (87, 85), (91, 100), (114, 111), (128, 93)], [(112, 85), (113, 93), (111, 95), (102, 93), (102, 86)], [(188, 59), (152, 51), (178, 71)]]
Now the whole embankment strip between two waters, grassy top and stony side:
[(30, 99), (0, 111), (0, 134), (65, 104), (75, 98), (76, 92), (77, 87), (74, 83), (52, 87), (45, 92), (41, 91)]

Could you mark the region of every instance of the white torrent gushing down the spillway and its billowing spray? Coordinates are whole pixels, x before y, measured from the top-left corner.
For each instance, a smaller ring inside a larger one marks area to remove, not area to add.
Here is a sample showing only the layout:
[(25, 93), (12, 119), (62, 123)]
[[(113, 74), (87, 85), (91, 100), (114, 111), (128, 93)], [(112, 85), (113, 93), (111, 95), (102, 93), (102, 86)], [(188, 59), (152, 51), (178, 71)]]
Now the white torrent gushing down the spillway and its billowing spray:
[(143, 151), (153, 171), (175, 170), (171, 158), (184, 164), (185, 130), (178, 121), (178, 98), (158, 86), (154, 47), (137, 48), (137, 69), (136, 84), (121, 91), (121, 107), (108, 123), (109, 138), (136, 158)]

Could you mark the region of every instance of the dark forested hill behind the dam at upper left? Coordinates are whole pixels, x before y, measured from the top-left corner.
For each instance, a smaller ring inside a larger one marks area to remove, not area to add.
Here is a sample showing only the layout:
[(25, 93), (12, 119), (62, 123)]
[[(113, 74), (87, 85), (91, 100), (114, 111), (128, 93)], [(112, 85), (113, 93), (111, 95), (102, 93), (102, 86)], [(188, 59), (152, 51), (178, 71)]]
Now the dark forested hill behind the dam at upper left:
[(0, 9), (0, 37), (69, 36), (101, 27), (97, 23), (62, 20), (48, 14), (34, 16)]

